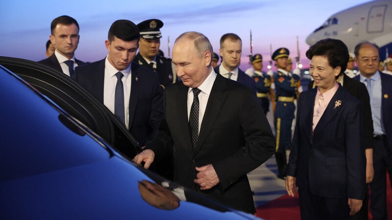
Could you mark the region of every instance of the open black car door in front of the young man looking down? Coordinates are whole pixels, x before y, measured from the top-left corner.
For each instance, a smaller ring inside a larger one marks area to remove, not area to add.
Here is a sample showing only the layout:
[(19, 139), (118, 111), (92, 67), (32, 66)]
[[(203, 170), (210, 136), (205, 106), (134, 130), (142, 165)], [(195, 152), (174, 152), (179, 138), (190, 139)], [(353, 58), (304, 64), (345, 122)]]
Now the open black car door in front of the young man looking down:
[(48, 66), (19, 58), (0, 56), (0, 65), (49, 97), (124, 156), (132, 159), (141, 151), (135, 137), (113, 113), (67, 75)]

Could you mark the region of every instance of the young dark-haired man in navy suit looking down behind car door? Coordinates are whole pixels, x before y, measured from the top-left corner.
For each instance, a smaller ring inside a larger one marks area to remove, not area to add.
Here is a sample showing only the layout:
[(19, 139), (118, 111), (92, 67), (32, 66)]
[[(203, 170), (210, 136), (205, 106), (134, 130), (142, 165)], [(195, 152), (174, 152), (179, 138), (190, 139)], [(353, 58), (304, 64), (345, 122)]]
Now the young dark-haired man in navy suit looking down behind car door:
[(157, 135), (163, 117), (163, 99), (157, 74), (131, 64), (139, 38), (133, 22), (114, 22), (105, 41), (106, 58), (78, 66), (73, 79), (123, 121), (144, 146)]

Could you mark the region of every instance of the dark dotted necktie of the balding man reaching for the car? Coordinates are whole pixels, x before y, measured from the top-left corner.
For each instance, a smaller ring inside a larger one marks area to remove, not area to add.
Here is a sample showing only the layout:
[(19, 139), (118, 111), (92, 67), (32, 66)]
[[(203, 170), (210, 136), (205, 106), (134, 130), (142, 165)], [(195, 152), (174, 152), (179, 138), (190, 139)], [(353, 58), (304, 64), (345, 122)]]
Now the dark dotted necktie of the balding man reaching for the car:
[(197, 137), (199, 136), (199, 93), (200, 89), (198, 88), (192, 88), (193, 91), (193, 103), (191, 107), (191, 113), (189, 114), (189, 132), (191, 133), (191, 138), (192, 138), (192, 147), (193, 150), (195, 151), (196, 148), (196, 143), (197, 143)]

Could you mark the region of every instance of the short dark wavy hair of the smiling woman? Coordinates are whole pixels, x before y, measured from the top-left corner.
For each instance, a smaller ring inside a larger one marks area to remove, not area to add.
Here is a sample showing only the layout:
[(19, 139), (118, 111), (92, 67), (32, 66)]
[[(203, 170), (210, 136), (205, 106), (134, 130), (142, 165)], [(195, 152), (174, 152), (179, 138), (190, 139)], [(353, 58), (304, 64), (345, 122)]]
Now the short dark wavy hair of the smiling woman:
[[(306, 51), (306, 57), (311, 60), (313, 56), (325, 56), (329, 66), (333, 68), (340, 66), (341, 70), (339, 75), (343, 74), (346, 70), (350, 58), (346, 44), (341, 40), (331, 38), (320, 40), (310, 46), (308, 51)], [(339, 78), (339, 76), (336, 78)]]

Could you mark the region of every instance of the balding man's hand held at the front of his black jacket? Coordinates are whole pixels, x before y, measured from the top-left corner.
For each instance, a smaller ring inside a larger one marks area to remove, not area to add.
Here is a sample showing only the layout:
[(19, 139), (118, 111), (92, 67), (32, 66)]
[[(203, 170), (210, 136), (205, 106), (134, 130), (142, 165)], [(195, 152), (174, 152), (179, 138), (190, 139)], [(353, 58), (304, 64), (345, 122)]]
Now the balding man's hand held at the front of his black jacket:
[(208, 190), (219, 183), (219, 177), (215, 172), (212, 164), (202, 167), (196, 167), (197, 179), (194, 180), (200, 186), (201, 190)]

